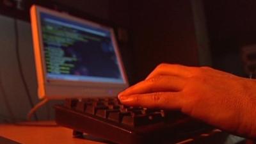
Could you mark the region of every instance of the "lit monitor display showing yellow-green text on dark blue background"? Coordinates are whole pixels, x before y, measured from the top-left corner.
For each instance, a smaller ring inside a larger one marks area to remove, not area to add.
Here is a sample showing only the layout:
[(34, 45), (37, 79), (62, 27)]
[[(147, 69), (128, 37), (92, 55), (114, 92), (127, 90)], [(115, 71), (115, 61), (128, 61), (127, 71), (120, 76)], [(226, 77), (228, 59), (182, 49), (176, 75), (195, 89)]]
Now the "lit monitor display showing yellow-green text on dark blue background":
[(45, 13), (40, 17), (47, 77), (123, 82), (109, 31)]

